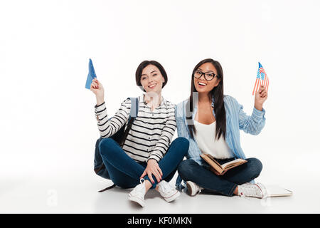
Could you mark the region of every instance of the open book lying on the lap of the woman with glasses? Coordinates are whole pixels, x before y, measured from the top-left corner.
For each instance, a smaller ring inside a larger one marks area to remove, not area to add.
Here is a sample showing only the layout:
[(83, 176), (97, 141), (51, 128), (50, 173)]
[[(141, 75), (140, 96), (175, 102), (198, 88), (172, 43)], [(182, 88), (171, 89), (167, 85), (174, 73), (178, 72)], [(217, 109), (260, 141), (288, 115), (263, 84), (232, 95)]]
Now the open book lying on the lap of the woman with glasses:
[(212, 155), (201, 154), (200, 156), (203, 158), (203, 160), (205, 160), (210, 165), (210, 169), (214, 169), (220, 174), (224, 174), (228, 170), (247, 162), (247, 160), (238, 158), (238, 159), (232, 160), (231, 162), (227, 162), (223, 165), (220, 165)]

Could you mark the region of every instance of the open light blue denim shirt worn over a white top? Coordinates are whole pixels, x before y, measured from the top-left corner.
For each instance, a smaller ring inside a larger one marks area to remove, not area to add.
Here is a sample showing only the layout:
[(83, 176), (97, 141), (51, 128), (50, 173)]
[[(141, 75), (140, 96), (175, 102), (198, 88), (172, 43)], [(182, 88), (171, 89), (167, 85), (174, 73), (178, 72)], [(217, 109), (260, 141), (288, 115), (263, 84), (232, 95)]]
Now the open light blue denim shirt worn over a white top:
[[(214, 98), (212, 98), (212, 107), (214, 104)], [(235, 98), (230, 95), (225, 95), (223, 98), (225, 103), (225, 116), (226, 116), (226, 133), (225, 142), (227, 142), (235, 158), (246, 159), (244, 152), (240, 146), (240, 130), (245, 133), (252, 135), (257, 135), (261, 132), (262, 128), (265, 126), (265, 109), (262, 111), (253, 108), (252, 115), (247, 115), (243, 111), (243, 106), (238, 103)], [(196, 161), (199, 165), (203, 165), (203, 160), (200, 157), (201, 150), (199, 149), (197, 142), (191, 138), (188, 130), (187, 120), (186, 120), (186, 104), (188, 100), (184, 100), (176, 105), (176, 126), (178, 130), (178, 137), (184, 137), (189, 140), (189, 150), (186, 155), (187, 159), (192, 159)], [(194, 121), (195, 115), (197, 113), (197, 106), (192, 113), (192, 120)], [(213, 116), (215, 112), (213, 110)], [(213, 139), (215, 135), (212, 135)], [(176, 179), (176, 187), (182, 190), (185, 185), (181, 184), (182, 179), (180, 176)], [(184, 183), (185, 184), (185, 183)]]

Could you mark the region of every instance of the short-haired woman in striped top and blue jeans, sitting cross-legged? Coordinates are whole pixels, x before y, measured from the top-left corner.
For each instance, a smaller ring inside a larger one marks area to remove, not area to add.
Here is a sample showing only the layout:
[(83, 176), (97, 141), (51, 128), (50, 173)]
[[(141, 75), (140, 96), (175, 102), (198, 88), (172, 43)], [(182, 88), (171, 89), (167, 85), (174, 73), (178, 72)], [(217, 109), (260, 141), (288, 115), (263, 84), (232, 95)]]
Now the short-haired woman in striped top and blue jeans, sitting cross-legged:
[(176, 138), (171, 142), (176, 130), (175, 105), (161, 95), (167, 81), (160, 63), (140, 63), (136, 82), (145, 93), (139, 97), (139, 112), (122, 147), (110, 137), (127, 125), (132, 107), (130, 99), (124, 100), (117, 113), (108, 119), (102, 83), (95, 78), (90, 88), (97, 98), (95, 113), (102, 136), (98, 156), (103, 164), (95, 164), (95, 168), (104, 165), (106, 170), (100, 172), (107, 172), (114, 185), (134, 187), (129, 199), (142, 207), (144, 195), (150, 189), (158, 190), (167, 202), (180, 195), (169, 181), (188, 151), (188, 140)]

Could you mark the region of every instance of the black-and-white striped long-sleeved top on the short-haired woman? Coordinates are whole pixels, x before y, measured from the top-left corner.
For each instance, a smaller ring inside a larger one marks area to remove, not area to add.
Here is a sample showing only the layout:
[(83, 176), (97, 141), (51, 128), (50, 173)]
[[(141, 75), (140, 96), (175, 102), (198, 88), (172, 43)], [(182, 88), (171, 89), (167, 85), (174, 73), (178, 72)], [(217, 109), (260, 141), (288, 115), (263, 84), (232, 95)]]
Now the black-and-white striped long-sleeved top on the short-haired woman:
[[(137, 162), (161, 160), (169, 148), (171, 138), (176, 130), (174, 103), (162, 98), (161, 105), (154, 111), (144, 102), (144, 95), (139, 98), (139, 113), (132, 123), (122, 149)], [(102, 138), (108, 138), (122, 128), (127, 128), (131, 100), (122, 102), (117, 113), (108, 118), (105, 103), (95, 105), (97, 126)]]

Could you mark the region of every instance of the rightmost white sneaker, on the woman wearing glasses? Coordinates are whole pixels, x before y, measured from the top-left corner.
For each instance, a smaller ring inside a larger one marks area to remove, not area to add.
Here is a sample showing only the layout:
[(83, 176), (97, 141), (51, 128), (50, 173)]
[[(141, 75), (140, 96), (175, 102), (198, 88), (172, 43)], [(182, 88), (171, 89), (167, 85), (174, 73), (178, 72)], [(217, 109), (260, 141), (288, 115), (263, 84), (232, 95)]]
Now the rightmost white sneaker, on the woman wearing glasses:
[(265, 185), (262, 185), (261, 183), (245, 183), (243, 185), (238, 185), (238, 195), (240, 197), (265, 199), (265, 197), (267, 197), (267, 189), (265, 188)]

